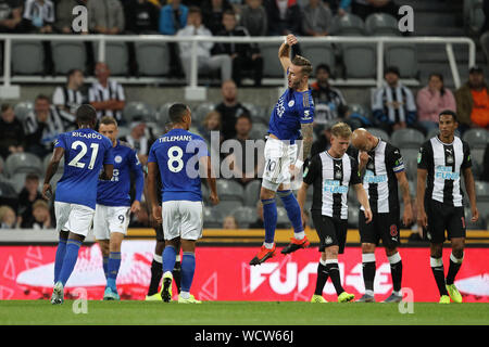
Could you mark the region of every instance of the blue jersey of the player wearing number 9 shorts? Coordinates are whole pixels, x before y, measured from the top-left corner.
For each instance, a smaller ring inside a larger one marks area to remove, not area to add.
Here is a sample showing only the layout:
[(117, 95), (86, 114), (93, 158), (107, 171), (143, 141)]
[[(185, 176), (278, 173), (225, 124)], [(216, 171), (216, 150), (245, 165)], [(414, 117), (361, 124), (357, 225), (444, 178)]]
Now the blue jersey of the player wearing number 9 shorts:
[(134, 174), (136, 196), (141, 201), (145, 179), (137, 152), (126, 142), (117, 140), (113, 147), (114, 174), (110, 181), (99, 180), (97, 204), (104, 206), (130, 206), (130, 172)]

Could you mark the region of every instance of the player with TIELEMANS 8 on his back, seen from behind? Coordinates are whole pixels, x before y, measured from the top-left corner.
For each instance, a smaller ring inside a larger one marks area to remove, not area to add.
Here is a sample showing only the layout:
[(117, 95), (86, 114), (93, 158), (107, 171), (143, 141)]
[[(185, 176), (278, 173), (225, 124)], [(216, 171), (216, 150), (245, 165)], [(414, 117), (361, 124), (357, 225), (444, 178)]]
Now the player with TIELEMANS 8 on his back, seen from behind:
[[(163, 250), (163, 301), (172, 299), (172, 270), (176, 261), (178, 243), (183, 249), (181, 282), (178, 303), (200, 304), (190, 294), (196, 269), (196, 241), (202, 236), (201, 177), (205, 176), (211, 189), (210, 201), (218, 203), (215, 178), (211, 172), (211, 158), (205, 141), (188, 131), (191, 112), (184, 104), (173, 104), (168, 110), (172, 130), (158, 139), (148, 158), (148, 191), (154, 219), (163, 223), (165, 248)], [(163, 189), (162, 205), (156, 197), (156, 172), (160, 171)]]

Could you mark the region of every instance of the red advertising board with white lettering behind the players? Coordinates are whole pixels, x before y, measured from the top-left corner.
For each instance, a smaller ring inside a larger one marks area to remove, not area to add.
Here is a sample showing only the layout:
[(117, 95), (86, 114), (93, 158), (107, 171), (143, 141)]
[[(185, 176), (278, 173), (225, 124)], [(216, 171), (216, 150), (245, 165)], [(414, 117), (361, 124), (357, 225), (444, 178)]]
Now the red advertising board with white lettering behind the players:
[[(51, 295), (55, 246), (1, 246), (0, 299), (38, 299)], [(202, 300), (309, 300), (314, 292), (317, 248), (292, 255), (277, 255), (261, 266), (250, 267), (258, 247), (198, 247), (192, 292)], [(123, 299), (143, 299), (148, 290), (153, 241), (125, 241), (117, 287)], [(401, 248), (402, 286), (411, 288), (415, 301), (437, 301), (438, 291), (429, 268), (428, 248)], [(450, 249), (443, 249), (446, 272)], [(390, 266), (384, 249), (376, 252), (376, 299), (392, 291)], [(455, 284), (465, 301), (489, 301), (489, 248), (467, 248)], [(339, 258), (347, 292), (363, 294), (362, 257), (359, 247), (347, 247)], [(97, 244), (80, 249), (66, 292), (84, 287), (89, 299), (101, 299), (105, 279)], [(174, 293), (176, 291), (174, 290)], [(324, 290), (327, 300), (336, 300), (330, 281)]]

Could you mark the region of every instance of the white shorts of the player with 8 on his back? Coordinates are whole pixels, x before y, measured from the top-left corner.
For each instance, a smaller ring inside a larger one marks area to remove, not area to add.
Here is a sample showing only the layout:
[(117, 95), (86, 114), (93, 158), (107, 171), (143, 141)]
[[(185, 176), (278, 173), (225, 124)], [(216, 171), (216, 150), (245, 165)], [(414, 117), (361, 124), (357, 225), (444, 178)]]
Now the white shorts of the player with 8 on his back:
[(162, 204), (163, 234), (165, 240), (202, 237), (202, 202), (171, 201)]

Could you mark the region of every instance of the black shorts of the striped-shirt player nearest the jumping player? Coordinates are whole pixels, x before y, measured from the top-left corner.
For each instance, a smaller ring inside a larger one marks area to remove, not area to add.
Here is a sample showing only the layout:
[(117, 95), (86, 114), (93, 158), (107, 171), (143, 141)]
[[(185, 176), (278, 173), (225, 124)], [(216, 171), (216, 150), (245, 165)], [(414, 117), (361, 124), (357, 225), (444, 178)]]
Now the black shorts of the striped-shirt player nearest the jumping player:
[(343, 254), (348, 220), (323, 216), (321, 211), (316, 210), (313, 210), (311, 215), (317, 236), (319, 236), (319, 252), (324, 252), (329, 246), (338, 246), (338, 253)]

